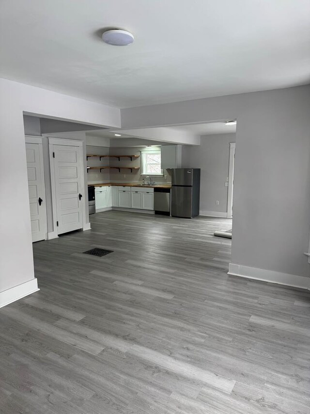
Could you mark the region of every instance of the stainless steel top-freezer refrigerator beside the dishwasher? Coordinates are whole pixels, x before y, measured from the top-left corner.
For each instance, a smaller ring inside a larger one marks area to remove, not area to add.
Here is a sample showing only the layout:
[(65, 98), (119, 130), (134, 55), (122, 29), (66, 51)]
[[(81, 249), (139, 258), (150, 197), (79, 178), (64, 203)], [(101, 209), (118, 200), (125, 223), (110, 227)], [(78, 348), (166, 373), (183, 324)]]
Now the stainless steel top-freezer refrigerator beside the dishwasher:
[(171, 182), (171, 215), (185, 218), (199, 215), (200, 168), (174, 168)]

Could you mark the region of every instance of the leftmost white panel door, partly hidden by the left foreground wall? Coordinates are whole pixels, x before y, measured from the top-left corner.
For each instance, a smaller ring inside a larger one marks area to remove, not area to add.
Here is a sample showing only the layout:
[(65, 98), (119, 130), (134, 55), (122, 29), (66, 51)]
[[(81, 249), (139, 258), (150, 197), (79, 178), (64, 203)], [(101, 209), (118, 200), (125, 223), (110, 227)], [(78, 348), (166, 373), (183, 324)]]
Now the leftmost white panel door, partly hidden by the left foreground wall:
[(44, 191), (43, 156), (39, 144), (26, 144), (32, 242), (46, 238), (47, 214)]

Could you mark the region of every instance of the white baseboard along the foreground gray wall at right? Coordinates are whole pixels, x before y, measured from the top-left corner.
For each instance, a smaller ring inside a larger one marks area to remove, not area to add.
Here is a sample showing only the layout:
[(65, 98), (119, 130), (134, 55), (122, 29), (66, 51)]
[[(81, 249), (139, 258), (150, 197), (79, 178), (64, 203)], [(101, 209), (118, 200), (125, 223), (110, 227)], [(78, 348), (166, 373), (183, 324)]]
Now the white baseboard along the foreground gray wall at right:
[(242, 278), (284, 284), (286, 286), (300, 287), (302, 289), (310, 290), (310, 278), (306, 276), (290, 275), (288, 273), (275, 272), (274, 270), (235, 265), (233, 263), (229, 264), (228, 274), (240, 276)]

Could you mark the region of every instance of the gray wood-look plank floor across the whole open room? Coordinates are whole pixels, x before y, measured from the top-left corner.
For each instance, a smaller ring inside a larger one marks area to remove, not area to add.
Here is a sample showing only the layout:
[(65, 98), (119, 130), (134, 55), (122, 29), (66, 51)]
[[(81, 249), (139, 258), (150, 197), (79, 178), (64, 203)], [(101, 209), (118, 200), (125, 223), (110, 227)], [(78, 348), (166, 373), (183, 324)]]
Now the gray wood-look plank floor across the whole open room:
[(40, 292), (0, 309), (0, 413), (309, 414), (310, 294), (228, 276), (231, 220), (91, 222), (35, 243)]

